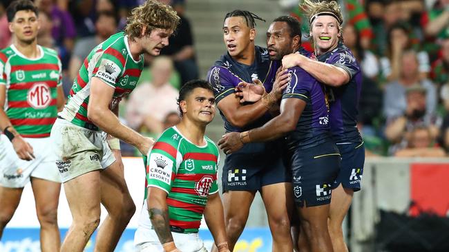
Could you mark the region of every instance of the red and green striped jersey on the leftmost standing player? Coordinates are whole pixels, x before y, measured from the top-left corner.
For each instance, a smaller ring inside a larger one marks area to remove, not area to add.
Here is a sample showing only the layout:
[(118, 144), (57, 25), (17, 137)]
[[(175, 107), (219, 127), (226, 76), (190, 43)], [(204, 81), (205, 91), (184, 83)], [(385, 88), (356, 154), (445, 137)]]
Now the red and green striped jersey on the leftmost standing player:
[(0, 85), (6, 85), (4, 109), (17, 132), (26, 138), (50, 136), (62, 79), (57, 52), (37, 47), (37, 59), (28, 59), (15, 45), (0, 52)]

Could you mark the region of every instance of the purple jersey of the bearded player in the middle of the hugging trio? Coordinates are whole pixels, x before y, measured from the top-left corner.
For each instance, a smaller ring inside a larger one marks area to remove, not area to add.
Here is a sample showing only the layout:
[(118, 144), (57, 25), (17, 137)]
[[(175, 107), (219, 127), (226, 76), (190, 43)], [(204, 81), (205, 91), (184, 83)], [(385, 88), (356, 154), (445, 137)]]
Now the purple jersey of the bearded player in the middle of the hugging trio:
[(306, 149), (326, 142), (332, 136), (324, 86), (300, 67), (289, 68), (289, 73), (292, 78), (284, 90), (283, 99), (298, 98), (306, 103), (296, 129), (287, 136), (289, 148)]

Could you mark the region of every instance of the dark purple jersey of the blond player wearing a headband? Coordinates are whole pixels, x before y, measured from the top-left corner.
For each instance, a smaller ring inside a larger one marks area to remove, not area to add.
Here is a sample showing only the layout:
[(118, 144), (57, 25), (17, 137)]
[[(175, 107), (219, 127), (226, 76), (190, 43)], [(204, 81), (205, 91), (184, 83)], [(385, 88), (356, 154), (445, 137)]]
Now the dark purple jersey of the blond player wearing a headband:
[(337, 143), (361, 141), (357, 129), (362, 74), (352, 52), (342, 43), (331, 52), (318, 56), (318, 61), (341, 67), (350, 75), (350, 82), (341, 87), (326, 87), (330, 105), (330, 126)]

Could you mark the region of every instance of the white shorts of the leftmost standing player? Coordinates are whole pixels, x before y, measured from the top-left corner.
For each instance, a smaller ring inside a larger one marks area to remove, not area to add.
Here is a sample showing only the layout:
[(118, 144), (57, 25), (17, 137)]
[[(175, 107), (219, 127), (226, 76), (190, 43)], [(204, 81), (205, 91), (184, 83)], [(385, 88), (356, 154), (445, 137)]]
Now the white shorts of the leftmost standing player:
[(30, 161), (20, 159), (10, 140), (3, 134), (0, 136), (0, 185), (22, 188), (30, 181), (30, 177), (60, 183), (50, 138), (23, 139), (32, 146), (35, 159)]

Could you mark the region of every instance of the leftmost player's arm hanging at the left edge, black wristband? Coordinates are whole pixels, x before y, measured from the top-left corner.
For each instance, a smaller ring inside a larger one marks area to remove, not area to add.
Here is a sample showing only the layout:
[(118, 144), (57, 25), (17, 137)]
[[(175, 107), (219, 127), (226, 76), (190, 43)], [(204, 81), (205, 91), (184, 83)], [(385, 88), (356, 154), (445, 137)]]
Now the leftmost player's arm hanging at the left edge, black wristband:
[[(3, 71), (0, 73), (3, 75)], [(4, 80), (0, 81), (0, 129), (9, 138), (12, 143), (12, 147), (17, 153), (17, 156), (23, 160), (32, 160), (35, 158), (34, 151), (31, 145), (26, 142), (20, 135), (19, 132), (12, 126), (8, 115), (6, 114), (5, 107), (6, 102), (6, 85), (4, 85)]]

